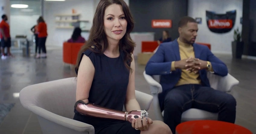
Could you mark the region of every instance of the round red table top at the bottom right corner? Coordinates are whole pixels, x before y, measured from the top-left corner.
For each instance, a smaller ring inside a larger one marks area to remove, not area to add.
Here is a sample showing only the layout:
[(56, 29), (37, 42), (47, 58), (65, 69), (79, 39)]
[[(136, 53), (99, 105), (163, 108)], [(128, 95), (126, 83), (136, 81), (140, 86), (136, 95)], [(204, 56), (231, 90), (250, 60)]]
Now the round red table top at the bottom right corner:
[(252, 134), (245, 127), (213, 120), (186, 121), (176, 127), (176, 134)]

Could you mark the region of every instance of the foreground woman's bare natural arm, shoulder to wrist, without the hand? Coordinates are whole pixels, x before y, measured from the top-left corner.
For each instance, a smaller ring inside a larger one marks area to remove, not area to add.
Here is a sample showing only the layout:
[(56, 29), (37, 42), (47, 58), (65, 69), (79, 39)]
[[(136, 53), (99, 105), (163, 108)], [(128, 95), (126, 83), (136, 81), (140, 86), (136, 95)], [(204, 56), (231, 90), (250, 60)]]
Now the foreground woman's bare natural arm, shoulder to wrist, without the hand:
[(133, 71), (130, 71), (129, 83), (126, 91), (126, 100), (124, 104), (126, 111), (141, 110), (135, 97), (135, 62), (133, 55), (132, 59), (133, 61), (131, 62), (131, 68)]

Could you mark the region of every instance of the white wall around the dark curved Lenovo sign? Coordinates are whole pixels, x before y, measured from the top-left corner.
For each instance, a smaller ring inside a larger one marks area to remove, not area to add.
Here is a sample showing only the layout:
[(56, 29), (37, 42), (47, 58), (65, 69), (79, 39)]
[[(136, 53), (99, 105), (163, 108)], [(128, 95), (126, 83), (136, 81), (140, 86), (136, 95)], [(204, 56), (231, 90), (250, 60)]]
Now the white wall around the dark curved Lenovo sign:
[[(233, 29), (228, 33), (218, 34), (209, 30), (206, 23), (206, 10), (215, 13), (225, 14), (226, 11), (236, 10), (236, 20)], [(198, 35), (196, 42), (210, 43), (214, 53), (232, 53), (231, 42), (234, 29), (237, 27), (242, 31), (240, 17), (243, 12), (243, 0), (189, 0), (188, 16), (193, 18), (201, 17), (202, 24), (198, 24)]]

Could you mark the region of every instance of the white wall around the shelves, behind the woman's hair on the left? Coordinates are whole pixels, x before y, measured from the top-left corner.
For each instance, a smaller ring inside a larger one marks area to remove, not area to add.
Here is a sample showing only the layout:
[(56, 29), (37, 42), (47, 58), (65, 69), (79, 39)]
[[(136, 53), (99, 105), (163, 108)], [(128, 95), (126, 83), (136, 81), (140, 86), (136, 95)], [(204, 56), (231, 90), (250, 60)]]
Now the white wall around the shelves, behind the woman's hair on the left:
[[(124, 0), (129, 4), (129, 0)], [(89, 20), (92, 25), (93, 16), (99, 0), (66, 0), (66, 1), (44, 1), (44, 19), (47, 24), (48, 37), (46, 46), (62, 46), (63, 42), (68, 40), (73, 29), (55, 28), (55, 14), (70, 14), (72, 9), (81, 13), (80, 20)], [(82, 32), (82, 36), (88, 39), (89, 33)]]

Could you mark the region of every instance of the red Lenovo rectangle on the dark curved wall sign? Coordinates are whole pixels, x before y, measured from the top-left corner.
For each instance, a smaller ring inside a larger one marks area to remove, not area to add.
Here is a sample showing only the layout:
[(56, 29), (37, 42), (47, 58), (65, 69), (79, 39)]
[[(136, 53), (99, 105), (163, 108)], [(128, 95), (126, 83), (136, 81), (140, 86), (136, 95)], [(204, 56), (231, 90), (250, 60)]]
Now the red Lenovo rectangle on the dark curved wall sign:
[(209, 28), (232, 28), (232, 19), (209, 19)]

